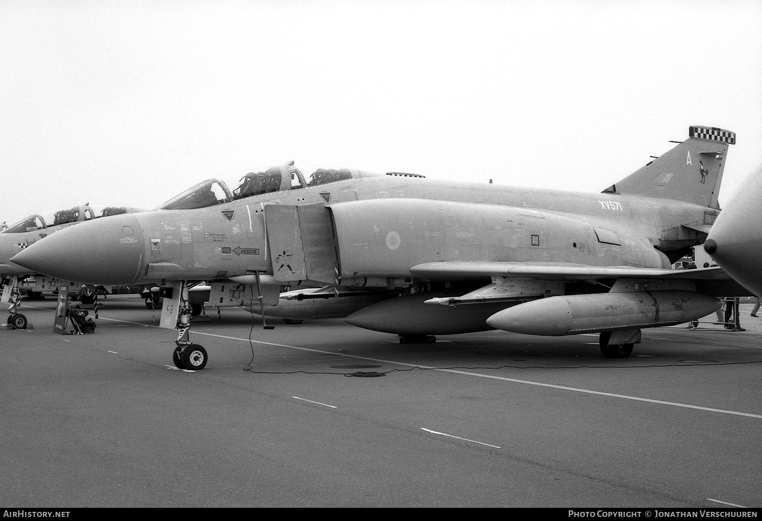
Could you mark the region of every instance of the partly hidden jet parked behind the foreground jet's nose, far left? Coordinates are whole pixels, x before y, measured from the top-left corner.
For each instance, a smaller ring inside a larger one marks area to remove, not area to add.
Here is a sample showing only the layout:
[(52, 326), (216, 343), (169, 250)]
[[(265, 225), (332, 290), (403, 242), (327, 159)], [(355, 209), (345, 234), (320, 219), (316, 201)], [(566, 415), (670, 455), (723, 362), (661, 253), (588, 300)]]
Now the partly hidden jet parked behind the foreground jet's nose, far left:
[[(11, 303), (9, 309), (11, 315), (8, 317), (8, 324), (16, 329), (27, 327), (27, 318), (18, 313), (22, 291), (32, 294), (41, 293), (43, 289), (57, 289), (57, 286), (62, 283), (60, 280), (37, 277), (34, 286), (24, 285), (27, 278), (37, 273), (15, 264), (11, 261), (11, 257), (40, 241), (40, 239), (69, 226), (99, 217), (136, 211), (136, 209), (125, 206), (91, 207), (89, 203), (85, 203), (69, 209), (34, 213), (2, 230), (0, 232), (0, 287), (3, 289), (2, 302)], [(75, 283), (71, 281), (63, 283), (67, 286), (75, 286)]]

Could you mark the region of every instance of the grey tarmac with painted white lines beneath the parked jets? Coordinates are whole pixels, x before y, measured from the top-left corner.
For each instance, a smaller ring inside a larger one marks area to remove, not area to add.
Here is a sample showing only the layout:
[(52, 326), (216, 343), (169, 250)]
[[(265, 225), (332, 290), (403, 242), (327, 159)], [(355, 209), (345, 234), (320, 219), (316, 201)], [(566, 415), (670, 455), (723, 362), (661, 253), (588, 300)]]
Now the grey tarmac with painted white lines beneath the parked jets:
[[(0, 331), (0, 506), (762, 507), (762, 320), (398, 344), (242, 308), (194, 323), (201, 371), (137, 296), (94, 334)], [(93, 313), (91, 312), (91, 316)]]

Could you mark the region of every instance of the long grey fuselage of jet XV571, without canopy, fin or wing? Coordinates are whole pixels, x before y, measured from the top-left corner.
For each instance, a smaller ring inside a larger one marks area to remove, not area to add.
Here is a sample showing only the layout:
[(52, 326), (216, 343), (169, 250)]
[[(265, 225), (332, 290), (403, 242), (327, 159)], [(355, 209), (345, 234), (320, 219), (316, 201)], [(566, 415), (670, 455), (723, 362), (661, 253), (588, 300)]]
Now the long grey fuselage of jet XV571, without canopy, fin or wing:
[[(309, 206), (330, 216), (321, 218), (323, 230), (314, 237), (329, 241), (335, 235), (330, 248), (338, 261), (336, 280), (405, 277), (413, 265), (432, 261), (664, 268), (670, 264), (664, 252), (699, 242), (681, 225), (706, 224), (718, 213), (655, 197), (354, 173), (203, 208), (85, 222), (48, 239), (46, 251), (35, 249), (27, 265), (86, 283), (210, 280), (253, 272), (290, 280), (280, 270), (294, 270), (280, 263), (289, 261), (290, 252), (273, 251), (280, 239), (274, 240), (275, 223), (267, 222), (265, 209)], [(305, 242), (311, 222), (299, 219), (308, 215), (294, 213), (295, 221), (287, 223)], [(56, 263), (54, 257), (66, 261)]]

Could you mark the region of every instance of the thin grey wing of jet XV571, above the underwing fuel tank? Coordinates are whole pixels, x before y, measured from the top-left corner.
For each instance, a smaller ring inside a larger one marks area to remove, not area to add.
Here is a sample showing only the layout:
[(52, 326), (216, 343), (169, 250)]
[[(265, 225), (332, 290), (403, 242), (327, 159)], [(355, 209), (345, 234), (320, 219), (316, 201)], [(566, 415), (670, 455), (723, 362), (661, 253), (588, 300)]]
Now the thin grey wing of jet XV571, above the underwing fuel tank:
[(628, 266), (589, 266), (573, 263), (427, 262), (410, 269), (417, 276), (443, 279), (482, 279), (487, 276), (528, 277), (543, 280), (604, 280), (639, 278), (670, 280), (730, 280), (721, 267), (697, 270), (661, 270)]

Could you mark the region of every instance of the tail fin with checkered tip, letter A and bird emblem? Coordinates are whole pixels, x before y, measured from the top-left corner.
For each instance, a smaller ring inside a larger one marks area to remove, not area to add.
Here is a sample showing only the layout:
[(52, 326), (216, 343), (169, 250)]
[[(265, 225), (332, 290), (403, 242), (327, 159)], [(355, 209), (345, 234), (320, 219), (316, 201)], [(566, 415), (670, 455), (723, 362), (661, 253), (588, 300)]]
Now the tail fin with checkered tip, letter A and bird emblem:
[(735, 133), (713, 126), (690, 126), (688, 136), (604, 193), (661, 197), (719, 209), (719, 185)]

